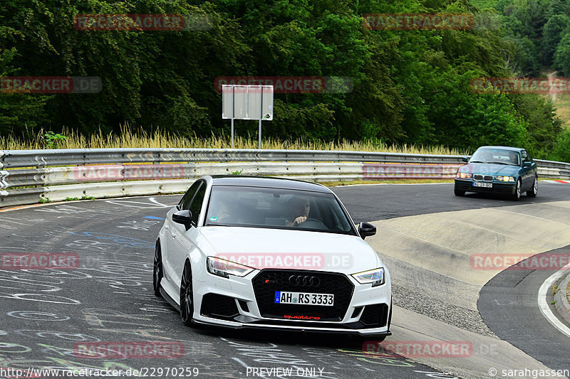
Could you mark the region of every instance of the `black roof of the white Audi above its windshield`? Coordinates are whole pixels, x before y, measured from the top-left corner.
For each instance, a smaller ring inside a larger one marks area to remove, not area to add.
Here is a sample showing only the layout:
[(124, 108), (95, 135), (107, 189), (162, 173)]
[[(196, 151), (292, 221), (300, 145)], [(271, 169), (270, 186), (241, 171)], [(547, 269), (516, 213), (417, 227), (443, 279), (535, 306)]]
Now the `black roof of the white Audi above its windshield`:
[(273, 178), (269, 176), (212, 175), (212, 186), (248, 186), (265, 188), (283, 188), (301, 191), (332, 193), (322, 184), (309, 181), (298, 181), (289, 178)]

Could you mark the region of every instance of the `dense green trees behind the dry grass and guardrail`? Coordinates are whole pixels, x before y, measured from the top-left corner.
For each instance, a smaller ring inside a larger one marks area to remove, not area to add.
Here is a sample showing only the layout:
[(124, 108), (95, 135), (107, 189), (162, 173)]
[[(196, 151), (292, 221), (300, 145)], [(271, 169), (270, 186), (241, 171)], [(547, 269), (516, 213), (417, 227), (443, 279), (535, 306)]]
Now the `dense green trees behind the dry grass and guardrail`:
[[(220, 117), (221, 95), (214, 90), (214, 80), (222, 76), (350, 78), (343, 90), (276, 93), (265, 137), (459, 149), (528, 144), (544, 155), (559, 133), (551, 104), (475, 94), (470, 80), (538, 75), (540, 54), (546, 61), (554, 54), (559, 69), (566, 70), (561, 37), (570, 15), (562, 0), (24, 3), (2, 3), (0, 76), (98, 76), (103, 90), (2, 92), (0, 134), (62, 127), (118, 134), (125, 123), (182, 137), (229, 134), (229, 122)], [(472, 13), (480, 24), (467, 31), (366, 29), (363, 14), (378, 12)], [(211, 28), (78, 31), (76, 14), (202, 14)], [(235, 127), (240, 136), (257, 131), (254, 122), (238, 121)], [(56, 148), (59, 134), (48, 133), (46, 146)]]

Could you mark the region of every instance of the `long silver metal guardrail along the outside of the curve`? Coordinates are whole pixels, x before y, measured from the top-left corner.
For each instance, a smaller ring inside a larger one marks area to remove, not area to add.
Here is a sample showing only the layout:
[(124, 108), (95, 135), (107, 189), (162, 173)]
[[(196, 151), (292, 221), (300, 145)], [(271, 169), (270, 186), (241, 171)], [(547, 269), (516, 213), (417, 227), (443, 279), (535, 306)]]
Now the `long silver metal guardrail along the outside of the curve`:
[[(308, 181), (452, 178), (461, 156), (371, 151), (61, 149), (0, 151), (0, 207), (40, 199), (185, 191), (204, 174), (292, 176)], [(570, 164), (539, 161), (539, 174), (570, 178)], [(18, 188), (34, 186), (36, 188)]]

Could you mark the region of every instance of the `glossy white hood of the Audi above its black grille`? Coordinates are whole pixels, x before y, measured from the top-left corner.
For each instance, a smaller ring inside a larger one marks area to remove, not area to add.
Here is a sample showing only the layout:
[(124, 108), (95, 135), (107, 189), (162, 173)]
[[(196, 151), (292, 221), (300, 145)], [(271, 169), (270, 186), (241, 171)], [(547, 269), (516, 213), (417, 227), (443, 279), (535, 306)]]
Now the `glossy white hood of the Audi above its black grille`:
[(206, 226), (212, 254), (257, 269), (308, 269), (344, 274), (383, 267), (360, 237), (336, 233)]

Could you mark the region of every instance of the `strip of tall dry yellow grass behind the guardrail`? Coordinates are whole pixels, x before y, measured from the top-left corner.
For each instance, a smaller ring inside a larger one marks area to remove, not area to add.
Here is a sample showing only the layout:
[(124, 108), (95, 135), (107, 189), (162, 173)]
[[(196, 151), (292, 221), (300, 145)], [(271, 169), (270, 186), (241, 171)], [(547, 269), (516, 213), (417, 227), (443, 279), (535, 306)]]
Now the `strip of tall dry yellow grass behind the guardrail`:
[[(84, 135), (70, 129), (63, 129), (61, 133), (66, 139), (58, 142), (59, 149), (112, 149), (128, 147), (172, 147), (172, 148), (209, 148), (209, 149), (229, 149), (231, 146), (230, 137), (227, 135), (216, 136), (212, 134), (209, 138), (200, 137), (180, 137), (176, 134), (169, 134), (160, 130), (147, 133), (144, 130), (133, 132), (128, 127), (122, 127), (118, 134), (104, 134), (99, 131), (95, 134)], [(26, 149), (46, 149), (46, 142), (43, 139), (44, 131), (41, 130), (36, 138), (24, 139), (14, 135), (0, 136), (1, 150), (26, 150)], [(257, 139), (236, 137), (234, 146), (237, 149), (257, 149)], [(345, 150), (345, 151), (381, 151), (405, 154), (445, 154), (461, 155), (465, 151), (457, 149), (447, 149), (442, 146), (415, 146), (403, 144), (401, 146), (388, 146), (379, 141), (348, 141), (340, 143), (325, 141), (306, 141), (296, 139), (294, 141), (265, 138), (261, 142), (261, 149), (295, 149), (295, 150)]]

